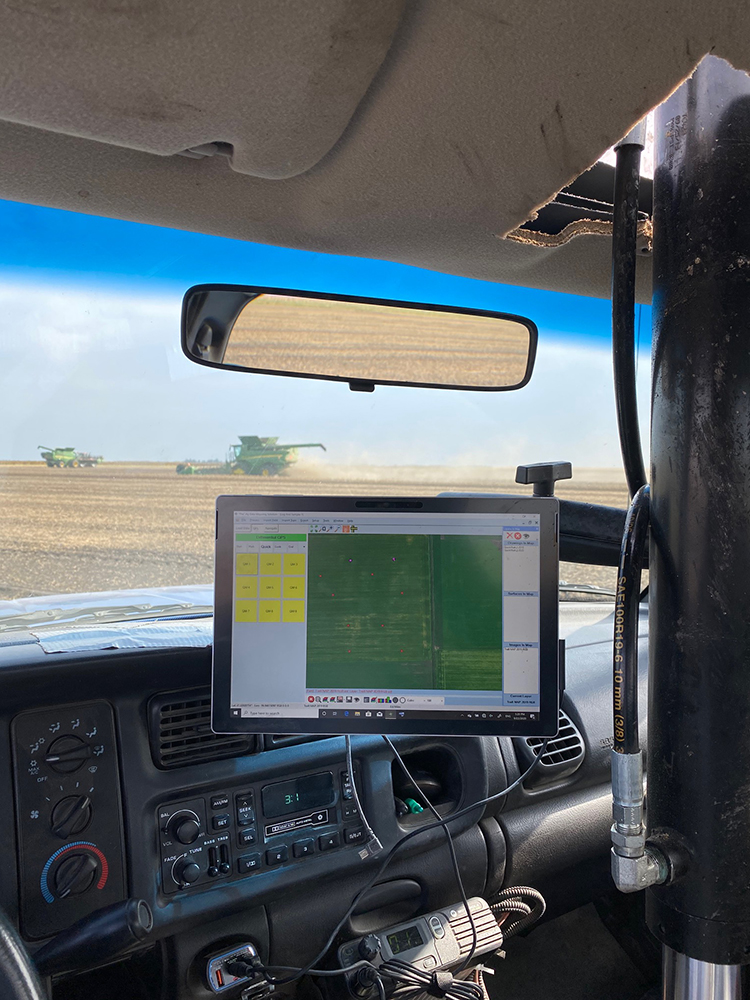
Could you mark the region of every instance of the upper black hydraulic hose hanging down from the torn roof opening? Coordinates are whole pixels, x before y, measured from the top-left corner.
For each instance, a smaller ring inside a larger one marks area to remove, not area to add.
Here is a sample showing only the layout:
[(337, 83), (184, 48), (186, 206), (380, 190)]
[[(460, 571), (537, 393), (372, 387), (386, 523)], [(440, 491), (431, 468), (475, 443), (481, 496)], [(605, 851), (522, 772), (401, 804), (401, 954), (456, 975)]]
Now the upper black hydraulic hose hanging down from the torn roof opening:
[(620, 448), (630, 496), (646, 482), (635, 391), (635, 264), (641, 146), (617, 149), (612, 228), (612, 360)]

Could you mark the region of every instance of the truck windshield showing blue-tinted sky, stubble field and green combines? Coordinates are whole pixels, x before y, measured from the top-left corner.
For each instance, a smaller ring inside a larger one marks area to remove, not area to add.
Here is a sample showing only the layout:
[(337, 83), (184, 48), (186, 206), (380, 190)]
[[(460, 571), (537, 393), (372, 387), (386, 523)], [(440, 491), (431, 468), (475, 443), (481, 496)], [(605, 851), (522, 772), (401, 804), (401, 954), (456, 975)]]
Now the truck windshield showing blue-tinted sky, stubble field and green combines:
[[(518, 464), (565, 460), (560, 497), (627, 503), (606, 301), (10, 202), (0, 216), (2, 600), (116, 591), (110, 608), (204, 607), (222, 493), (528, 493)], [(179, 344), (182, 296), (204, 281), (516, 312), (539, 327), (536, 369), (496, 394), (213, 371)], [(615, 570), (563, 564), (561, 578), (575, 596), (612, 589)], [(190, 586), (195, 600), (158, 590)]]

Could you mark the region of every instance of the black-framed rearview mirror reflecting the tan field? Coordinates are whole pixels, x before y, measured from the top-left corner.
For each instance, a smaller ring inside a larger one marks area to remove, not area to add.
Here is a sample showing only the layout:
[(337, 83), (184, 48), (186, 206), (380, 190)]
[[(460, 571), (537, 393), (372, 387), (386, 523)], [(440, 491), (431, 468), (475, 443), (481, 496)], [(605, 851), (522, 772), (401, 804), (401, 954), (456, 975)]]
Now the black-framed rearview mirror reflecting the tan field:
[(182, 349), (214, 368), (376, 385), (498, 392), (531, 378), (531, 320), (507, 313), (282, 288), (197, 285)]

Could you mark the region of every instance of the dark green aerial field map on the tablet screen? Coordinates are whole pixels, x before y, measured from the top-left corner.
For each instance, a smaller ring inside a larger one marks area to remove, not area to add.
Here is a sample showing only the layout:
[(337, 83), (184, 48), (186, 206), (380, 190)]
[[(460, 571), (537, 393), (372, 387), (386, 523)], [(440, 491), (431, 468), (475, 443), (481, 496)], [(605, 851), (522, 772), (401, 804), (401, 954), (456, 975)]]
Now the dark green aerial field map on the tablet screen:
[(307, 686), (502, 688), (502, 539), (308, 536)]

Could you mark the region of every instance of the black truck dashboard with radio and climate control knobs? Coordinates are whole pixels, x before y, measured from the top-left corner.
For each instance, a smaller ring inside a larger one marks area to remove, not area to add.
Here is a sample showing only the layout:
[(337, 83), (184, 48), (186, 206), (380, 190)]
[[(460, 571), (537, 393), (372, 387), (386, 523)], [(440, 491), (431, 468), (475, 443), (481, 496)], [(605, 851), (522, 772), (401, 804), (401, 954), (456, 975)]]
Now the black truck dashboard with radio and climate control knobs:
[[(612, 606), (562, 604), (560, 630), (558, 736), (525, 786), (452, 824), (469, 895), (530, 884), (552, 912), (608, 888)], [(645, 608), (641, 631), (645, 704)], [(382, 857), (363, 851), (343, 738), (213, 734), (210, 669), (209, 647), (46, 653), (30, 634), (0, 644), (0, 794), (14, 805), (0, 813), (0, 840), (12, 845), (0, 905), (32, 952), (108, 903), (142, 897), (154, 915), (144, 947), (159, 951), (166, 995), (208, 997), (197, 971), (207, 949), (246, 937), (264, 961), (300, 966), (372, 877)], [(445, 814), (501, 792), (539, 741), (395, 742)], [(353, 749), (363, 808), (388, 851), (427, 820), (398, 808), (408, 788), (380, 737), (356, 737)], [(444, 835), (427, 831), (398, 852), (345, 932), (457, 894)]]

